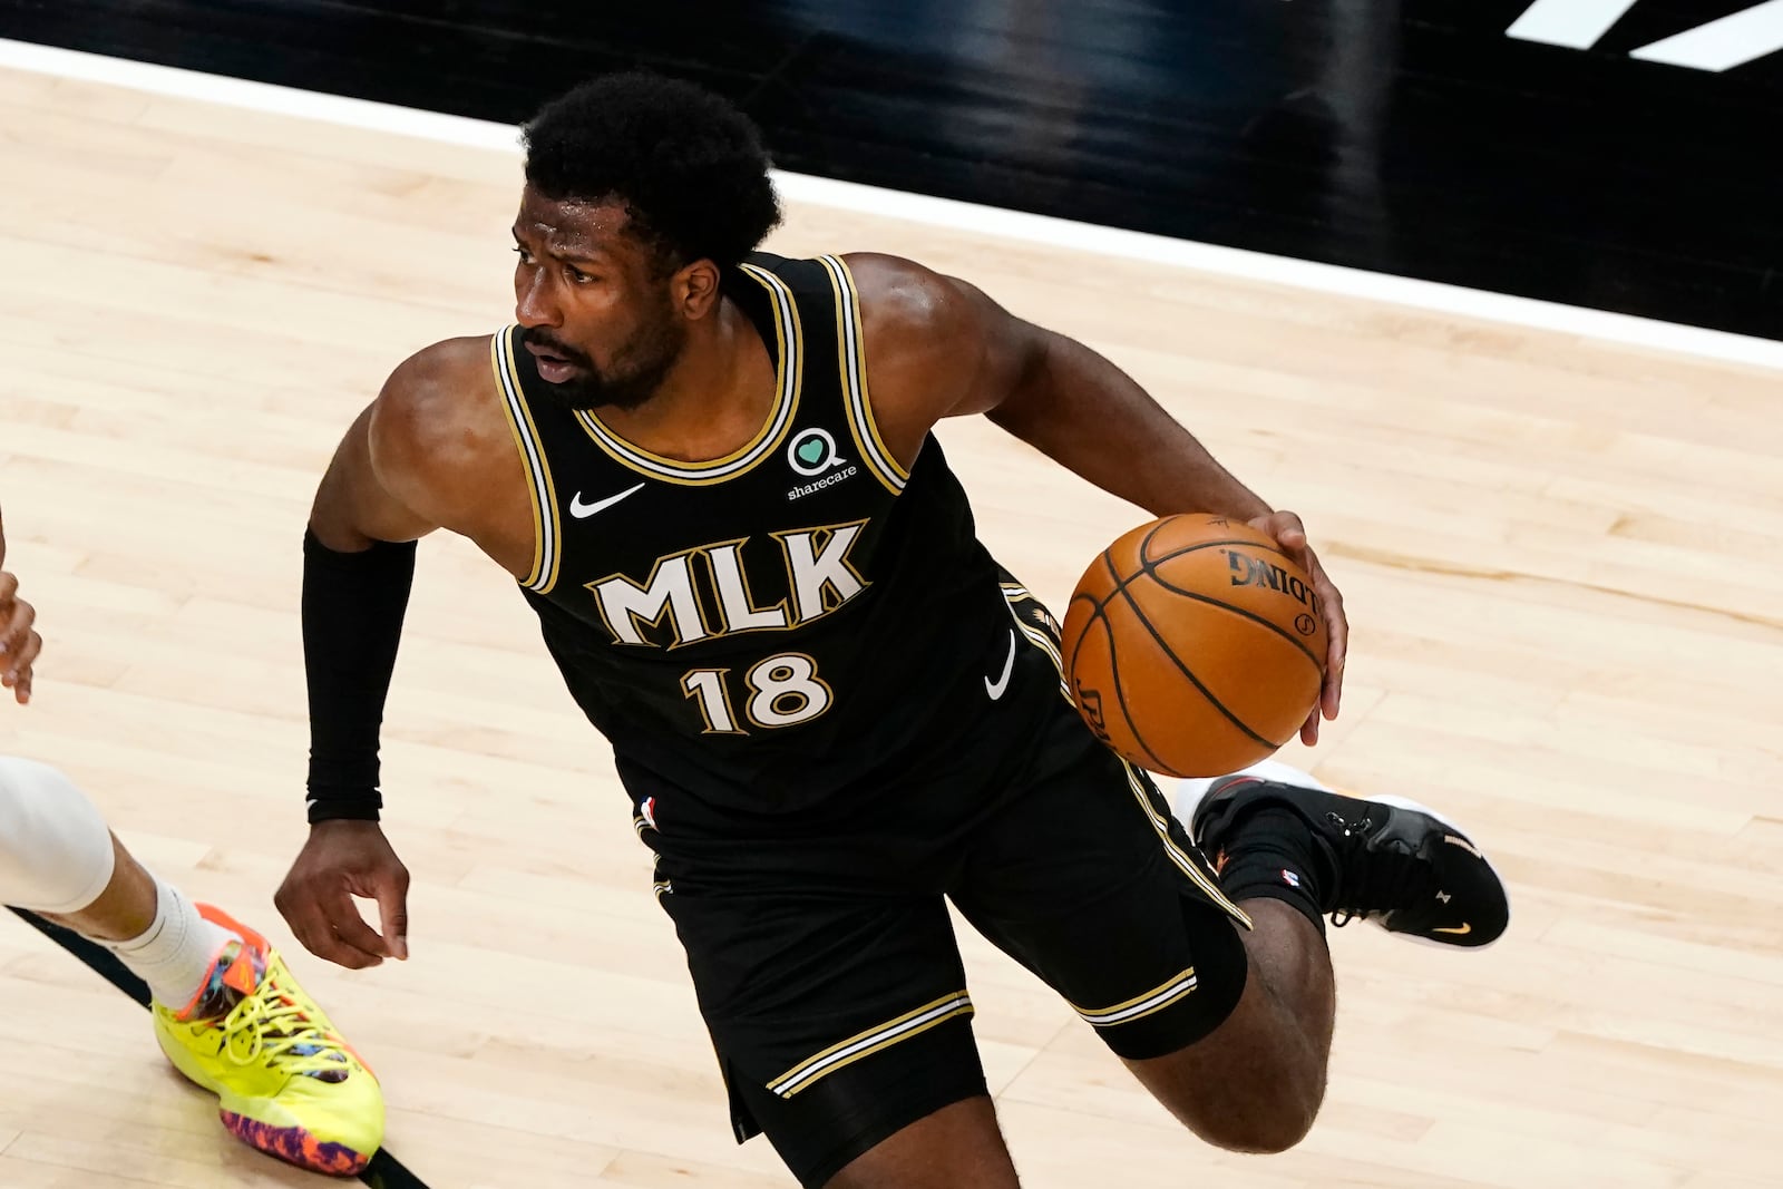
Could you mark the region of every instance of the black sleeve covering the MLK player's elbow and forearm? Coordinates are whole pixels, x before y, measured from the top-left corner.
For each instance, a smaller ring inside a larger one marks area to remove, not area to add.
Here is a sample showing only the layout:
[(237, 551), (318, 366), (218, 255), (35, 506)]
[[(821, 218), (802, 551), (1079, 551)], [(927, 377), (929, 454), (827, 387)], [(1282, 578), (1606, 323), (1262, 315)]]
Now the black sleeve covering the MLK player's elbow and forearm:
[(335, 553), (303, 533), (310, 824), (378, 820), (378, 729), (414, 578), (412, 540)]

